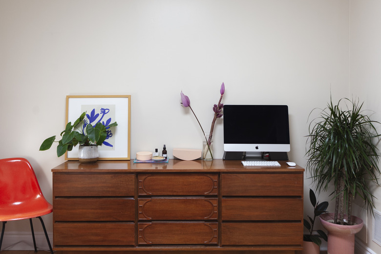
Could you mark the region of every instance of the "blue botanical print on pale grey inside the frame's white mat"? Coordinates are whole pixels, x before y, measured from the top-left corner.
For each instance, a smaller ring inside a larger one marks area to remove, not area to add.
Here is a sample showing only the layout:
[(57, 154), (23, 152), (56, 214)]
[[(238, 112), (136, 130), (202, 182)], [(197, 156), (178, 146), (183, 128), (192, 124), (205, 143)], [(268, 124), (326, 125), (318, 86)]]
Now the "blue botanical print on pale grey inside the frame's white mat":
[[(95, 127), (97, 123), (101, 123), (107, 126), (115, 122), (115, 105), (82, 105), (82, 110), (86, 111), (86, 118), (84, 120), (84, 126), (82, 131), (85, 131), (87, 125), (92, 125)], [(89, 113), (90, 112), (90, 113)], [(106, 140), (102, 143), (102, 146), (98, 149), (109, 150), (114, 149), (115, 138), (114, 136), (115, 127), (107, 127)]]

